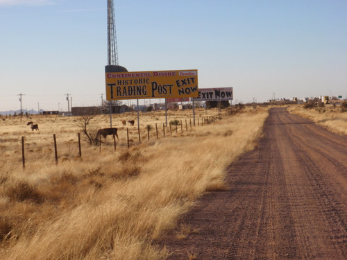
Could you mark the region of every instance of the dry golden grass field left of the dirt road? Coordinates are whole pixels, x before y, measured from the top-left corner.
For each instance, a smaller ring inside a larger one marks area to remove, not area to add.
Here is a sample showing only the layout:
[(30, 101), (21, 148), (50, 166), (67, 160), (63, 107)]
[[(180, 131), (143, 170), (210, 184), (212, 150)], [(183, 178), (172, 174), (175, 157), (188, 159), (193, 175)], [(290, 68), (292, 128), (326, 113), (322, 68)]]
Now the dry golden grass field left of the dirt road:
[[(81, 159), (67, 157), (58, 166), (51, 158), (31, 162), (25, 171), (20, 162), (17, 168), (3, 166), (0, 258), (167, 258), (169, 252), (153, 241), (173, 229), (203, 193), (224, 189), (227, 166), (256, 146), (267, 115), (266, 108), (246, 109), (188, 132), (175, 130), (172, 137), (156, 139), (153, 134), (150, 141), (130, 149), (122, 136), (116, 152), (112, 144), (103, 146), (101, 153), (91, 147)], [(189, 112), (169, 116), (191, 119)], [(16, 139), (25, 131), (28, 136), (49, 136), (56, 130), (68, 138), (78, 131), (76, 118), (50, 120), (42, 120), (40, 133), (16, 122), (1, 125), (0, 132)], [(162, 114), (144, 114), (142, 121), (162, 123)], [(108, 126), (105, 116), (95, 123)], [(181, 229), (182, 234), (196, 232)]]

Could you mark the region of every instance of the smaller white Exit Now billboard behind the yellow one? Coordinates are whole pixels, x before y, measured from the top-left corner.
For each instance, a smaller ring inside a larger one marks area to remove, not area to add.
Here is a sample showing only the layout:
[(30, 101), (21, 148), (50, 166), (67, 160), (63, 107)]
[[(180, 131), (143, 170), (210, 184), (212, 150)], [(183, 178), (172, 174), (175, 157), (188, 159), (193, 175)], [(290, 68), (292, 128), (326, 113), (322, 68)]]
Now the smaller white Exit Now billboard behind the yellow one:
[(233, 98), (232, 87), (198, 89), (198, 97), (194, 101), (230, 101)]

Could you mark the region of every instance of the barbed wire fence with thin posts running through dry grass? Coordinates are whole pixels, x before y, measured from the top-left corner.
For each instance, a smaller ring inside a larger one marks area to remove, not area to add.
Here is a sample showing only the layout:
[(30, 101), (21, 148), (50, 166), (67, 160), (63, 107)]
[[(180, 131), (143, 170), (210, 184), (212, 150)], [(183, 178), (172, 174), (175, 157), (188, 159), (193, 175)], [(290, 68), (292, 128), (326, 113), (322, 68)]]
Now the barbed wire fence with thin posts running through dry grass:
[[(173, 120), (168, 125), (155, 123), (146, 125), (144, 128), (126, 128), (126, 131), (122, 129), (123, 132), (119, 132), (120, 139), (112, 139), (111, 136), (111, 138), (106, 137), (99, 142), (99, 153), (104, 148), (110, 150), (112, 146), (116, 151), (117, 147), (130, 148), (130, 146), (141, 144), (142, 141), (183, 134), (195, 127), (225, 119), (227, 116), (228, 113), (221, 113), (214, 116), (201, 116), (195, 122), (192, 119)], [(83, 153), (89, 153), (92, 149), (95, 150), (96, 146), (87, 144), (82, 140), (81, 135), (83, 134), (64, 133), (53, 134), (51, 137), (27, 135), (12, 139), (0, 138), (0, 166), (20, 167), (22, 165), (25, 168), (27, 164), (33, 162), (42, 161), (47, 164), (58, 164), (69, 159), (83, 157)]]

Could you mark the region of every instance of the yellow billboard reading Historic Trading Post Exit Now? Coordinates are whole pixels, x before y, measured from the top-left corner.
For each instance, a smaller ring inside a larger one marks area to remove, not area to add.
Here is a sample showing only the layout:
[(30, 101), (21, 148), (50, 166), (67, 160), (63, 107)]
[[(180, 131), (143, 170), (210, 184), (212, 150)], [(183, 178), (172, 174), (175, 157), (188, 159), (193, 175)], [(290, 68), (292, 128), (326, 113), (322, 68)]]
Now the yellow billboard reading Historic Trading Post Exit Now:
[(198, 97), (198, 71), (106, 72), (108, 101), (137, 98)]

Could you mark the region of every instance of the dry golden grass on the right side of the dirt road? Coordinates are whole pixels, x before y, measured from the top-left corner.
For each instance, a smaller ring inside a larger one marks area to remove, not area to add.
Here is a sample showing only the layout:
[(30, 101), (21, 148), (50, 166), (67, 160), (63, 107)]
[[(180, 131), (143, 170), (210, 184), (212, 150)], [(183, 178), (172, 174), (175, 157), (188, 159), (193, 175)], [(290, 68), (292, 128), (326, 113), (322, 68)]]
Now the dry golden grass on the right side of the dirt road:
[(338, 105), (325, 105), (320, 109), (305, 109), (303, 105), (291, 105), (288, 111), (323, 125), (332, 132), (347, 135), (347, 112), (341, 112)]

